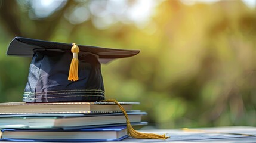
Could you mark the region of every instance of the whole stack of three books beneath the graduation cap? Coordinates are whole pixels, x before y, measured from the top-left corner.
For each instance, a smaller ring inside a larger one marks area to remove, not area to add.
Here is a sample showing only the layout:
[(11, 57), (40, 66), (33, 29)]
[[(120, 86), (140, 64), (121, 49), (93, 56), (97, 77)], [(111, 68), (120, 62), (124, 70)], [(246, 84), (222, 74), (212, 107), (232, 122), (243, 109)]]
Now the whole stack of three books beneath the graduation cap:
[[(138, 102), (119, 102), (131, 125), (145, 112), (132, 110)], [(127, 138), (126, 119), (112, 102), (56, 102), (0, 104), (0, 136), (3, 141), (120, 141)]]

